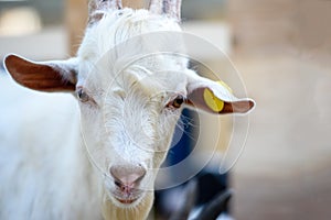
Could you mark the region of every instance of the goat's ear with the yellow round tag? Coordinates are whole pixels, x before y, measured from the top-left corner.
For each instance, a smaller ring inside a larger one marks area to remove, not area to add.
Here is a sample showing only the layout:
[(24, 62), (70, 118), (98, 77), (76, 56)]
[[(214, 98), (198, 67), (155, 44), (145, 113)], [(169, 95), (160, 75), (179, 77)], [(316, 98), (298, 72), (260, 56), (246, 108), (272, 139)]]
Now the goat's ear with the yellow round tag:
[(255, 107), (255, 101), (248, 98), (236, 98), (232, 89), (223, 81), (212, 81), (199, 77), (188, 85), (189, 106), (217, 114), (248, 113)]

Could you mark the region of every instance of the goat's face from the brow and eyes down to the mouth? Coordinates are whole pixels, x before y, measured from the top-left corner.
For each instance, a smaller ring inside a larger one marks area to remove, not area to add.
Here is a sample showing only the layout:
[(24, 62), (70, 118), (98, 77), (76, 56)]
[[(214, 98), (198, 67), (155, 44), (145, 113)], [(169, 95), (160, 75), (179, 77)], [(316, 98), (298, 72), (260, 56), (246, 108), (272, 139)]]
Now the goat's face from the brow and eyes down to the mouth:
[(145, 70), (129, 67), (110, 86), (78, 88), (89, 91), (81, 100), (86, 146), (105, 174), (110, 199), (119, 206), (135, 205), (142, 191), (152, 190), (186, 97), (183, 75), (140, 78)]

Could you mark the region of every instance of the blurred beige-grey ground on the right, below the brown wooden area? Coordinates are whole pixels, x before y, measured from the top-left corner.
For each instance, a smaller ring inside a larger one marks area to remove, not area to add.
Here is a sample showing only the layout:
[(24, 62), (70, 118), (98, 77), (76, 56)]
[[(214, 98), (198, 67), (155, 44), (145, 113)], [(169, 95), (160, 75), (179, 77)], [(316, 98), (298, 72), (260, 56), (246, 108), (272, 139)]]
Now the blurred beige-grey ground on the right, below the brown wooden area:
[[(236, 219), (331, 218), (331, 72), (303, 52), (234, 57), (257, 101), (234, 169)], [(280, 52), (280, 53), (279, 53)]]

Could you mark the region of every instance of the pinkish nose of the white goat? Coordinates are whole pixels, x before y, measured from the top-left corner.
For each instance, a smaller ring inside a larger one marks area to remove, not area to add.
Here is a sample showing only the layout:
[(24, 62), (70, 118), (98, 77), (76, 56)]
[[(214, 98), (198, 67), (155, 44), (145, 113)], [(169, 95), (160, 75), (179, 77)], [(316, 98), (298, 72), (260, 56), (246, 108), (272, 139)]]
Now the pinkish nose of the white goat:
[(118, 187), (135, 188), (146, 175), (146, 169), (135, 165), (114, 165), (110, 167), (110, 174)]

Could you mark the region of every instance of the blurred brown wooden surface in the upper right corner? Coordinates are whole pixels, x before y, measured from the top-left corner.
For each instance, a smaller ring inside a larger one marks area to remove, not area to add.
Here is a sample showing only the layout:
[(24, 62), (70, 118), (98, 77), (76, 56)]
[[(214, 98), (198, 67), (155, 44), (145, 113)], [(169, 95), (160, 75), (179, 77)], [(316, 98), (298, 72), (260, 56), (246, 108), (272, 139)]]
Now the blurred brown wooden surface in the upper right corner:
[(231, 0), (237, 48), (245, 52), (295, 46), (330, 51), (331, 1)]

